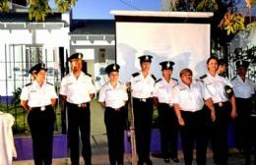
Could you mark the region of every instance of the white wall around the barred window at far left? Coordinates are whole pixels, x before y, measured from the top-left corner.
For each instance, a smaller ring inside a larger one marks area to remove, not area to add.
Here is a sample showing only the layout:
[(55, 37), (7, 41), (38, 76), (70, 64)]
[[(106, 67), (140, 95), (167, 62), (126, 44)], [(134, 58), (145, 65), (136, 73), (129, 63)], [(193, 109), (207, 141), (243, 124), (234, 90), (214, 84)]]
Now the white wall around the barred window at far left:
[[(59, 23), (58, 23), (59, 24)], [(12, 25), (12, 27), (15, 27)], [(47, 27), (47, 25), (45, 25)], [(1, 29), (0, 30), (0, 71), (2, 71), (2, 74), (0, 74), (0, 95), (12, 95), (12, 92), (14, 91), (14, 88), (17, 88), (19, 86), (23, 86), (23, 83), (29, 83), (31, 82), (31, 78), (28, 77), (24, 82), (22, 81), (19, 83), (18, 81), (14, 83), (14, 77), (16, 79), (19, 78), (19, 74), (14, 76), (14, 65), (12, 62), (17, 62), (18, 59), (20, 59), (20, 62), (22, 62), (21, 57), (22, 53), (26, 54), (25, 50), (25, 44), (40, 44), (42, 45), (42, 58), (45, 59), (45, 56), (47, 54), (47, 61), (53, 61), (53, 56), (55, 56), (56, 63), (49, 63), (51, 66), (47, 67), (53, 67), (55, 69), (58, 69), (59, 67), (59, 55), (58, 52), (56, 52), (56, 49), (58, 47), (64, 47), (65, 49), (69, 49), (69, 40), (70, 36), (68, 34), (69, 27), (59, 27), (54, 29)], [(11, 45), (13, 44), (21, 44), (24, 46), (23, 49), (15, 50), (15, 57), (13, 56), (13, 50), (10, 49)], [(19, 53), (18, 53), (19, 52)], [(8, 66), (6, 71), (5, 66), (5, 56), (7, 56), (7, 61), (11, 62), (11, 66)], [(16, 64), (19, 65), (19, 64)], [(7, 75), (6, 75), (7, 72)], [(6, 91), (6, 80), (8, 81), (8, 91)]]

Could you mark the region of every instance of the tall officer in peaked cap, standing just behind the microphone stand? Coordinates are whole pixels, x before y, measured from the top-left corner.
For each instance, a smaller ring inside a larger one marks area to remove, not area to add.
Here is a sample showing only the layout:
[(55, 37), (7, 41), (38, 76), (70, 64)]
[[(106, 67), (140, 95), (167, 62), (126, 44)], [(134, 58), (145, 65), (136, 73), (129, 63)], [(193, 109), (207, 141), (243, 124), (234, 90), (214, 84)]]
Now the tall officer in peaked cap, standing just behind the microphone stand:
[(150, 159), (150, 146), (153, 120), (152, 94), (156, 78), (150, 74), (152, 58), (151, 55), (140, 56), (142, 70), (133, 74), (131, 79), (138, 165), (144, 162), (148, 165), (153, 164)]

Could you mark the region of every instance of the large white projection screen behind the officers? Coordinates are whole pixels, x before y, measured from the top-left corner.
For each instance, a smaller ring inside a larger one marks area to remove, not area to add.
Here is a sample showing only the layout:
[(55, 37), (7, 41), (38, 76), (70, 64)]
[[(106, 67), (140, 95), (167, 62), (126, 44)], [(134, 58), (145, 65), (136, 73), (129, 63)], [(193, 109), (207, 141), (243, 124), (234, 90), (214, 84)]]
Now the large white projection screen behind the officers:
[(112, 11), (116, 27), (116, 63), (120, 81), (129, 82), (140, 71), (138, 57), (153, 56), (151, 73), (161, 78), (160, 62), (171, 60), (172, 78), (179, 80), (183, 68), (194, 78), (206, 73), (210, 57), (212, 13)]

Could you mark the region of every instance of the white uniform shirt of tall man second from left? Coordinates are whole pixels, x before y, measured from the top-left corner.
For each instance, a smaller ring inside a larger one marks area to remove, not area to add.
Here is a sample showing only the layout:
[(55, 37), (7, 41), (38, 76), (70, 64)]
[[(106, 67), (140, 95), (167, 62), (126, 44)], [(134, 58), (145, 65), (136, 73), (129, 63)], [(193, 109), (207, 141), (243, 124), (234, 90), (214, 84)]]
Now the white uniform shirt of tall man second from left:
[(60, 84), (60, 94), (67, 96), (67, 101), (81, 104), (91, 101), (90, 94), (96, 93), (92, 78), (81, 72), (78, 79), (73, 72), (65, 76)]

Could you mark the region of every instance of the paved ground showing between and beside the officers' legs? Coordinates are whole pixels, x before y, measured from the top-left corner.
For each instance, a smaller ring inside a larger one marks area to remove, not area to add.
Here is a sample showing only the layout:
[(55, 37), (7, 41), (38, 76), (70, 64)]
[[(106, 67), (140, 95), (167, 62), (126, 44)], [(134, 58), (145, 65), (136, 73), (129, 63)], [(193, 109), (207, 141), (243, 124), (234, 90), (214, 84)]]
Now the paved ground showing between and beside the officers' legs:
[[(98, 106), (98, 104), (94, 104), (94, 109), (92, 109), (92, 148), (93, 148), (93, 164), (94, 165), (108, 165), (108, 155), (107, 155), (107, 143), (105, 136), (105, 128), (103, 123), (103, 110)], [(169, 164), (175, 165), (183, 165), (182, 153), (179, 152), (179, 163), (170, 162)], [(130, 164), (130, 154), (125, 154), (125, 164)], [(152, 156), (152, 160), (154, 165), (164, 165), (161, 158), (158, 158), (157, 155)], [(252, 158), (253, 162), (253, 158)], [(14, 161), (13, 165), (32, 165), (32, 160), (28, 161)], [(53, 165), (70, 165), (69, 158), (61, 158), (54, 159)], [(83, 159), (81, 159), (81, 164), (84, 165)], [(196, 164), (196, 163), (194, 163)], [(212, 152), (209, 150), (208, 152), (208, 165), (214, 165), (212, 159)], [(228, 165), (244, 165), (244, 157), (243, 155), (237, 153), (235, 149), (231, 149), (229, 151), (229, 159)], [(253, 165), (253, 163), (251, 163)]]

